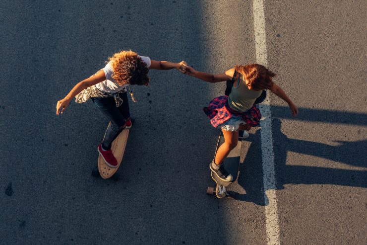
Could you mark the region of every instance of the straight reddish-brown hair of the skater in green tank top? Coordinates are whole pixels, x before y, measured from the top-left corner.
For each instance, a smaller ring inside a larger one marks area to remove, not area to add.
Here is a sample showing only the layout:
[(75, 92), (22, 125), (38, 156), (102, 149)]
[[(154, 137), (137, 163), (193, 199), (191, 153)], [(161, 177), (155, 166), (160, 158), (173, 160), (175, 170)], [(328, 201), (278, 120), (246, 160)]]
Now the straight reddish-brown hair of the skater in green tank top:
[(244, 75), (250, 89), (263, 90), (270, 89), (274, 82), (271, 78), (277, 76), (275, 73), (269, 71), (266, 67), (259, 64), (251, 64), (245, 66), (235, 66), (237, 72)]

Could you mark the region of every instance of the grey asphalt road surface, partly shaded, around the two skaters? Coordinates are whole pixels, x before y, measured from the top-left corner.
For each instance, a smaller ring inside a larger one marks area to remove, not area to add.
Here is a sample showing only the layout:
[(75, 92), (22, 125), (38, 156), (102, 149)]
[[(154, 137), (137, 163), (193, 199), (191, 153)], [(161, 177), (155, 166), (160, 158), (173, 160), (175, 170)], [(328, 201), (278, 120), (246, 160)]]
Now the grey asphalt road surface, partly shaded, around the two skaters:
[[(222, 73), (256, 62), (252, 0), (0, 2), (0, 244), (268, 243), (260, 128), (242, 149), (239, 200), (206, 194), (223, 94), (177, 71), (133, 87), (118, 181), (91, 176), (108, 121), (56, 102), (120, 50)], [(367, 3), (264, 1), (277, 244), (367, 243)]]

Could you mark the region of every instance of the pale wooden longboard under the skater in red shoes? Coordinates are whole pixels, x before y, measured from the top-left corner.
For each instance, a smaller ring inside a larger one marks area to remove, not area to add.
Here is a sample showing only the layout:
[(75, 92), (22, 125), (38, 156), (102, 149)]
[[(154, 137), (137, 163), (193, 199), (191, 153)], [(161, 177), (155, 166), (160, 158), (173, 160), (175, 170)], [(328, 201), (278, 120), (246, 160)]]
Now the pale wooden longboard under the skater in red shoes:
[[(109, 123), (108, 127), (110, 126), (110, 124), (111, 122)], [(128, 135), (129, 129), (123, 129), (119, 136), (114, 140), (114, 142), (112, 142), (111, 150), (117, 160), (117, 167), (110, 167), (106, 164), (101, 155), (98, 156), (98, 171), (102, 178), (106, 179), (112, 177), (112, 175), (116, 173), (117, 169), (119, 169), (122, 162), (123, 154), (125, 152)]]

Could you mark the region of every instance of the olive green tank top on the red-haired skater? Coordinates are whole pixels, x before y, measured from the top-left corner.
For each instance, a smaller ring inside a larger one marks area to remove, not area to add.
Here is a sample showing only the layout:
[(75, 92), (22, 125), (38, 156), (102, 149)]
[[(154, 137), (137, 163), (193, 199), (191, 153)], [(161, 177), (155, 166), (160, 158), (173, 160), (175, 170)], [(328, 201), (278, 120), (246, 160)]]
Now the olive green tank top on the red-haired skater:
[(228, 103), (232, 109), (245, 112), (252, 107), (262, 91), (248, 89), (245, 82), (241, 79), (241, 73), (238, 74), (238, 80), (233, 83), (232, 91), (228, 96)]

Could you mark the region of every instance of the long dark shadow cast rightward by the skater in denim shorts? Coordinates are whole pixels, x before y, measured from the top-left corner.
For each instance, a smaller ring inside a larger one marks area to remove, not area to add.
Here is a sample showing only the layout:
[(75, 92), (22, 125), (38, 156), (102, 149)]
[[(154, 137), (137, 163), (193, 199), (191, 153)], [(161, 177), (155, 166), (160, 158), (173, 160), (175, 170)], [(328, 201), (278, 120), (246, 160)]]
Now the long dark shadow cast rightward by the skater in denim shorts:
[[(272, 107), (273, 115), (288, 115), (287, 107)], [(280, 118), (273, 117), (272, 132), (274, 144), (274, 163), (276, 173), (276, 188), (284, 189), (286, 184), (331, 184), (351, 187), (367, 187), (367, 171), (329, 167), (316, 167), (305, 165), (286, 165), (288, 152), (295, 152), (309, 156), (315, 156), (326, 160), (345, 163), (354, 167), (367, 167), (363, 152), (367, 152), (367, 140), (359, 141), (335, 141), (336, 146), (318, 142), (290, 139), (282, 133)], [(356, 118), (350, 122), (351, 118)], [(330, 122), (349, 125), (367, 125), (367, 114), (313, 110), (300, 108), (300, 116), (293, 120), (305, 120), (314, 122)], [(247, 143), (246, 143), (247, 142)], [(260, 130), (250, 135), (243, 144), (249, 144), (243, 164), (240, 165), (239, 185), (245, 189), (246, 194), (233, 192), (232, 195), (241, 201), (253, 202), (265, 205), (264, 187), (261, 162)]]

